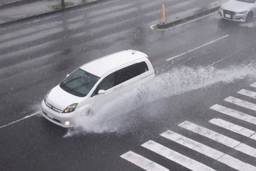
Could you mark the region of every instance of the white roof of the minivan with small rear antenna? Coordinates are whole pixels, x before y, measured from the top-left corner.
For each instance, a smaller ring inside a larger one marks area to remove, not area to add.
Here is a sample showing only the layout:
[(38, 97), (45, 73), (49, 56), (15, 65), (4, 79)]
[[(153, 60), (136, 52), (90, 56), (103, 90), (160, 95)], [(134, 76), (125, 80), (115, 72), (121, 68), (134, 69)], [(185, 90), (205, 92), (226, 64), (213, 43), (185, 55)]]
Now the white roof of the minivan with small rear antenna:
[(94, 74), (95, 76), (102, 77), (105, 73), (110, 72), (116, 67), (145, 57), (147, 57), (147, 55), (143, 52), (129, 49), (126, 51), (116, 52), (115, 54), (107, 55), (99, 59), (95, 59), (84, 64), (80, 67), (80, 69)]

